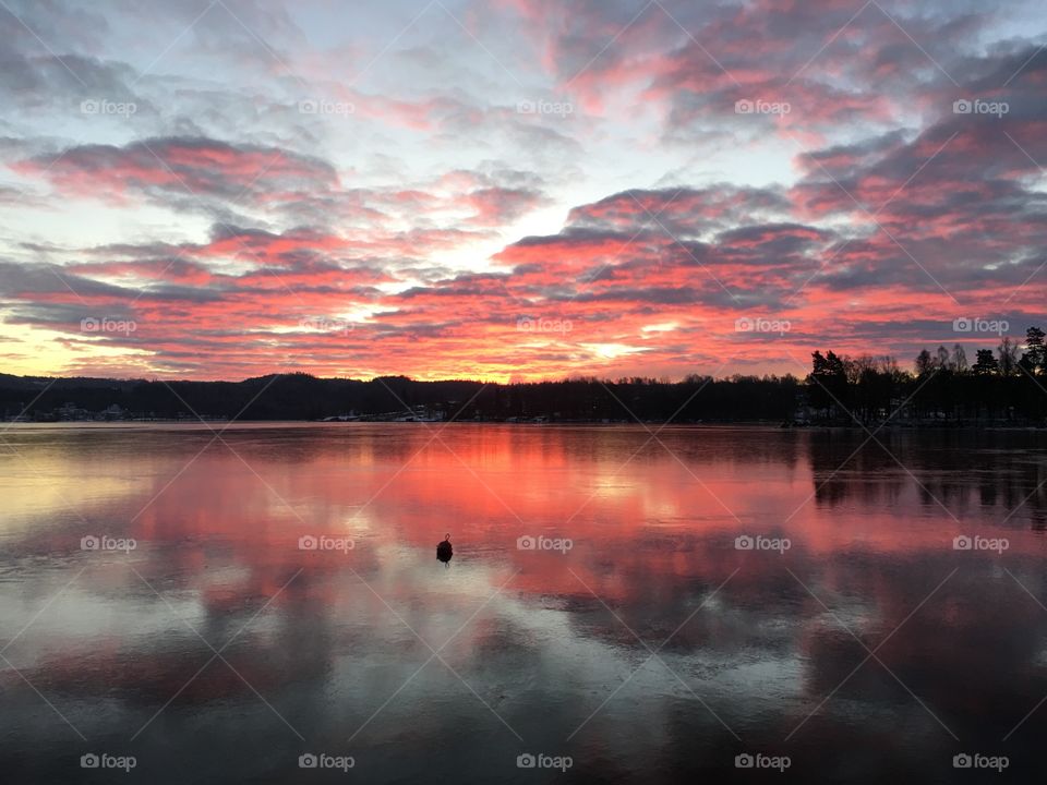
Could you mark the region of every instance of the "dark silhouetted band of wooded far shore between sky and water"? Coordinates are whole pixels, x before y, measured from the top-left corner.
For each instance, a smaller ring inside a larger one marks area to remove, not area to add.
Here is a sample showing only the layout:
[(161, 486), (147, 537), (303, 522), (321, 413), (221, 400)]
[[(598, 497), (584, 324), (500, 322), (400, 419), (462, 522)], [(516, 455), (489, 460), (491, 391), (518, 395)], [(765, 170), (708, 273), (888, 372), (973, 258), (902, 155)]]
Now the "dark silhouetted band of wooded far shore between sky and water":
[(878, 422), (1043, 425), (1047, 418), (1044, 333), (1031, 327), (1024, 346), (1002, 338), (968, 363), (964, 349), (924, 350), (912, 371), (891, 357), (811, 353), (811, 371), (792, 375), (679, 382), (597, 377), (515, 384), (468, 379), (370, 381), (304, 373), (243, 382), (161, 382), (20, 377), (0, 374), (5, 419), (49, 421), (117, 407), (117, 419), (224, 418), (323, 420), (345, 414), (397, 419), (550, 422), (781, 422), (868, 425)]

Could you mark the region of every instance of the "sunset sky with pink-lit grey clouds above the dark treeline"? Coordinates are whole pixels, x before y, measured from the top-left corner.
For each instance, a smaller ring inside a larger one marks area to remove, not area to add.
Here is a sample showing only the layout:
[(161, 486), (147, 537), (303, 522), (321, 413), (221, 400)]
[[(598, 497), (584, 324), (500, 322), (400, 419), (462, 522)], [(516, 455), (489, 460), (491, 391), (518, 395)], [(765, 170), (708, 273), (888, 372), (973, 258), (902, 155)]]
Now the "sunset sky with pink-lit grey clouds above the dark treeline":
[(1047, 7), (0, 0), (0, 371), (793, 373), (1047, 327)]

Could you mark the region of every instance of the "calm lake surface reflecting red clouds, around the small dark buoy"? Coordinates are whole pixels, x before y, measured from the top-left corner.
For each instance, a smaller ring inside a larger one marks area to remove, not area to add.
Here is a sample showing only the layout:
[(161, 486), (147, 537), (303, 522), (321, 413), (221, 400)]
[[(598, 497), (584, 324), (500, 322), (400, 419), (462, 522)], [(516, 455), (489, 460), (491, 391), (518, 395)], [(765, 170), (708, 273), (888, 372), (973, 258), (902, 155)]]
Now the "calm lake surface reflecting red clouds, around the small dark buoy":
[(8, 430), (3, 781), (1047, 771), (1047, 435), (441, 427)]

